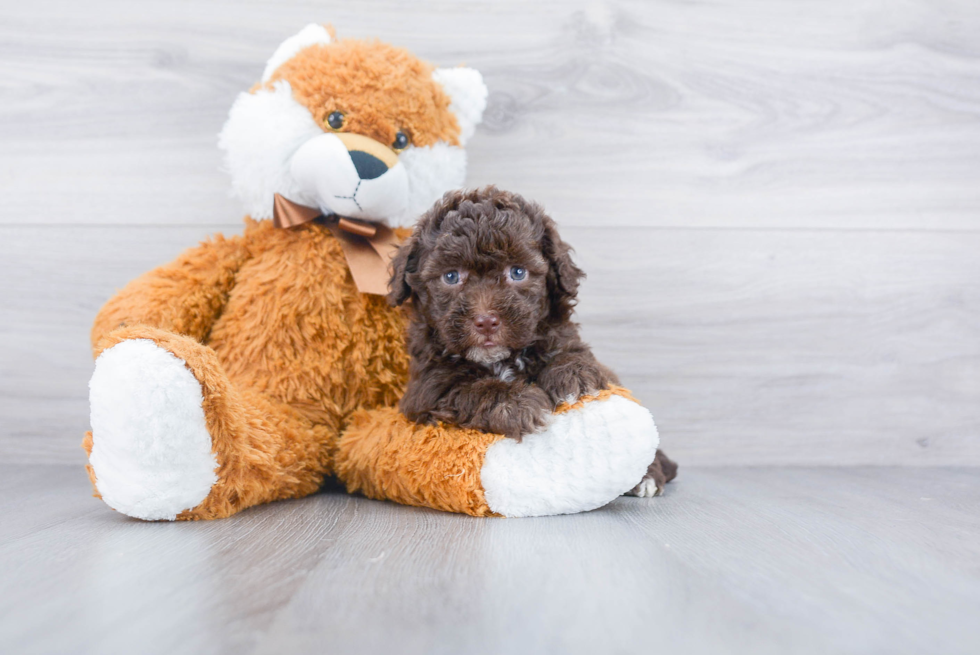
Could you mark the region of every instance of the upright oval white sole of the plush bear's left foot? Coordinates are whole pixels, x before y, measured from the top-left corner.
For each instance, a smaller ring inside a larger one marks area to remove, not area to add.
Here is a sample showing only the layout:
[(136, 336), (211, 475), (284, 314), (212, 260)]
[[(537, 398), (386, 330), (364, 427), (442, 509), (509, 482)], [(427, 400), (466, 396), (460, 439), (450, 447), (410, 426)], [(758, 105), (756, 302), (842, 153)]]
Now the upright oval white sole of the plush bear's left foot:
[(102, 352), (89, 381), (96, 487), (109, 507), (174, 520), (218, 480), (201, 385), (184, 362), (148, 339)]

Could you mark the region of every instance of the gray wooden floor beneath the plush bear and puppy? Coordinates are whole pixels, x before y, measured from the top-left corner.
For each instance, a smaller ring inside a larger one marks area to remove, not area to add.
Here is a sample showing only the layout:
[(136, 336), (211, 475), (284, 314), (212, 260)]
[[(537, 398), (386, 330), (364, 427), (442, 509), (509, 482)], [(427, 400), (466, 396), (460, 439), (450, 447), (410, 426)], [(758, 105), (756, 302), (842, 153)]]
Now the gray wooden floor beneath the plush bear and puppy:
[(980, 471), (687, 469), (473, 519), (339, 493), (143, 523), (0, 466), (4, 653), (977, 653)]

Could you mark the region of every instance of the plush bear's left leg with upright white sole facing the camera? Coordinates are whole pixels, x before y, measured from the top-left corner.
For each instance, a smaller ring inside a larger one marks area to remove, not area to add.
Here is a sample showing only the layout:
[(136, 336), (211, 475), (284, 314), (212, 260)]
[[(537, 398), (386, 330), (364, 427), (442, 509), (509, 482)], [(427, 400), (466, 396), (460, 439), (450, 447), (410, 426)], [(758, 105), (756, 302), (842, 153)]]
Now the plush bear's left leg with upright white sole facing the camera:
[(104, 342), (89, 383), (89, 472), (113, 509), (145, 520), (220, 518), (315, 492), (329, 429), (235, 388), (216, 353), (146, 326)]

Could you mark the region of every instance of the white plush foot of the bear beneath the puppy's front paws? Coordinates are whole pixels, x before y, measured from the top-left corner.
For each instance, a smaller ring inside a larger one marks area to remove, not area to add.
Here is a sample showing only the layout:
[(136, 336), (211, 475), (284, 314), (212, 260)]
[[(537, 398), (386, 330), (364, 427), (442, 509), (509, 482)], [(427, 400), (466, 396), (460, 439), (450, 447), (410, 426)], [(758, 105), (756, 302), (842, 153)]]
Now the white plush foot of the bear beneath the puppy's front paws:
[(602, 507), (643, 478), (659, 442), (640, 405), (619, 396), (587, 403), (521, 441), (490, 446), (480, 472), (487, 505), (509, 517)]

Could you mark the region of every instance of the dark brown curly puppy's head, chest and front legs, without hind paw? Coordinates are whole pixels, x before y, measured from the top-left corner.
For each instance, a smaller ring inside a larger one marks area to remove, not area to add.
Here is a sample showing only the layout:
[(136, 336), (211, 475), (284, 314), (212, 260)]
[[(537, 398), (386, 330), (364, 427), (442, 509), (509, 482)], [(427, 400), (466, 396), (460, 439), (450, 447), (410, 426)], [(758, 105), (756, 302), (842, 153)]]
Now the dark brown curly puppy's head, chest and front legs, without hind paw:
[(540, 206), (492, 186), (423, 215), (389, 295), (412, 301), (405, 415), (520, 437), (617, 382), (571, 321), (584, 274), (570, 253)]

